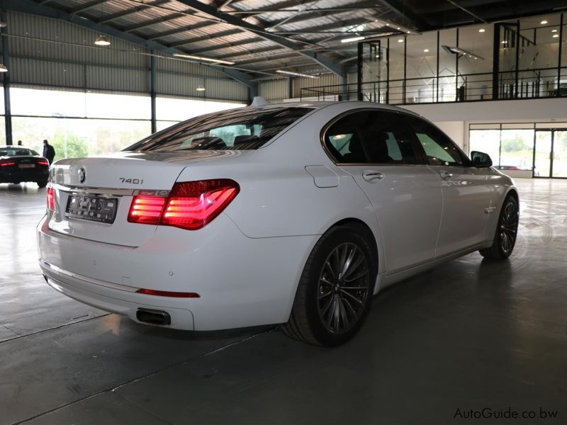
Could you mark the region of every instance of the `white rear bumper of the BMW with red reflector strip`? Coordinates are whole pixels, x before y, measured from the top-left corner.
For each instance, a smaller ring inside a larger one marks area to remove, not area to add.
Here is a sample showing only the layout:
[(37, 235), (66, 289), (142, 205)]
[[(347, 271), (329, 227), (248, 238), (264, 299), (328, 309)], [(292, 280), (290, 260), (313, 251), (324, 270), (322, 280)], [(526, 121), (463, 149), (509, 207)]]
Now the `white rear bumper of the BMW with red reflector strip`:
[[(37, 237), (40, 268), (61, 293), (136, 321), (138, 308), (163, 310), (172, 317), (169, 327), (196, 331), (287, 322), (319, 238), (252, 239), (223, 214), (195, 232), (159, 226), (136, 248), (55, 232), (46, 217)], [(200, 297), (145, 295), (139, 288)]]

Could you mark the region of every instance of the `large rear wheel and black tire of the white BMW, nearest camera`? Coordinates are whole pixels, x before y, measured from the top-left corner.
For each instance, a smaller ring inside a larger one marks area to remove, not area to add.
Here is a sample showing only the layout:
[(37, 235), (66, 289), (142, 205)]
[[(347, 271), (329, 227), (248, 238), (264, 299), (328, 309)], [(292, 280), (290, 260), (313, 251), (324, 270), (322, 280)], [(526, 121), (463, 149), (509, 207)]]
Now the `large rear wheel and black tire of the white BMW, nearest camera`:
[(377, 270), (369, 241), (356, 227), (332, 227), (311, 251), (281, 328), (309, 344), (344, 344), (368, 316)]

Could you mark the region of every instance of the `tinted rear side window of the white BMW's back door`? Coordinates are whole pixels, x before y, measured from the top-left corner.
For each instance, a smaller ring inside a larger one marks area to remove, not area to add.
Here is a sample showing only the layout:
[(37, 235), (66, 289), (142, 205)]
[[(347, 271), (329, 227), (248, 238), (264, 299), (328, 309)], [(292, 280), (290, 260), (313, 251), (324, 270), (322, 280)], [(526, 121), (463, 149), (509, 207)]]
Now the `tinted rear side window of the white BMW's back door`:
[(419, 156), (400, 114), (357, 111), (325, 132), (325, 147), (341, 164), (417, 164)]

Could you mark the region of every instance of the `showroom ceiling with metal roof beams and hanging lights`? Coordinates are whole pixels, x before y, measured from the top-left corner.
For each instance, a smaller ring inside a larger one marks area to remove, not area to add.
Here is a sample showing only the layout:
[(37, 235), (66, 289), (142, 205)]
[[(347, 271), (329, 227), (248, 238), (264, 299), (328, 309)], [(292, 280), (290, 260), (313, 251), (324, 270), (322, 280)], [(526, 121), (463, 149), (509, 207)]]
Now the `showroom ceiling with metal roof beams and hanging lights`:
[(281, 71), (344, 76), (357, 56), (356, 40), (344, 42), (349, 38), (567, 9), (565, 0), (8, 0), (5, 4), (140, 40), (162, 53), (199, 57), (203, 64), (232, 68), (235, 74), (256, 79)]

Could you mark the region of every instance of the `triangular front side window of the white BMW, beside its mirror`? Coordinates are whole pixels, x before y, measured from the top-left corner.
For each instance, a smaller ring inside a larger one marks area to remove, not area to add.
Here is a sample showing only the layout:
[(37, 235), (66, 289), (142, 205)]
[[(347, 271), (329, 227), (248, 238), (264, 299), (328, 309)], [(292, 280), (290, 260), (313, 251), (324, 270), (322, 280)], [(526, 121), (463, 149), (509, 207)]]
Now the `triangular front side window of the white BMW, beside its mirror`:
[(408, 116), (406, 120), (415, 132), (430, 165), (468, 165), (465, 155), (441, 130), (417, 117)]

